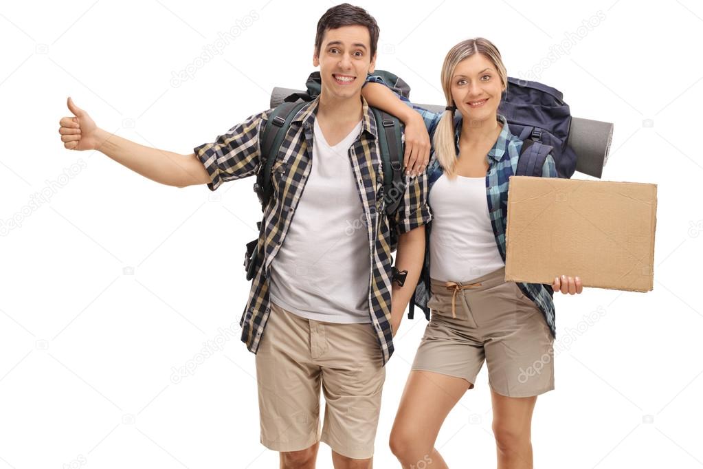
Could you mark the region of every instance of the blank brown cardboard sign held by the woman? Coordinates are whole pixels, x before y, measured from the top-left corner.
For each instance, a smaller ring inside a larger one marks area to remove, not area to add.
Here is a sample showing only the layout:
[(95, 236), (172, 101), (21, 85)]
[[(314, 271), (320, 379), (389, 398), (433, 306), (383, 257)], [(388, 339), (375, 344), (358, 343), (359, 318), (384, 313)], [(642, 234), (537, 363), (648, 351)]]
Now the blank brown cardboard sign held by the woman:
[(510, 176), (505, 280), (650, 291), (656, 225), (656, 184)]

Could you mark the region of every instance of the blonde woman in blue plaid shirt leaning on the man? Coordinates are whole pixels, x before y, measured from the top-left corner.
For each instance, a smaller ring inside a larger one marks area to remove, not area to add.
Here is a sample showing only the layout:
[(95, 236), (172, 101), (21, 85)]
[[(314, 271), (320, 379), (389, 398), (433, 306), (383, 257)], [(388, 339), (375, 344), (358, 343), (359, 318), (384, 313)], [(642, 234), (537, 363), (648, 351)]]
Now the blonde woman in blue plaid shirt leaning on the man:
[[(439, 114), (415, 113), (379, 77), (369, 81), (363, 88), (368, 103), (406, 123), (406, 168), (414, 174), (427, 167), (433, 213), (425, 257), (430, 285), (421, 280), (415, 295), (425, 306), (429, 288), (432, 317), (401, 398), (391, 449), (404, 468), (446, 468), (434, 449), (439, 428), (474, 387), (485, 360), (498, 468), (531, 468), (534, 405), (538, 394), (554, 389), (554, 304), (548, 287), (574, 295), (583, 286), (578, 277), (567, 276), (553, 285), (504, 280), (501, 195), (507, 194), (522, 141), (498, 114), (508, 83), (501, 55), (483, 38), (454, 46), (441, 72), (447, 108)], [(557, 176), (552, 155), (542, 176)]]

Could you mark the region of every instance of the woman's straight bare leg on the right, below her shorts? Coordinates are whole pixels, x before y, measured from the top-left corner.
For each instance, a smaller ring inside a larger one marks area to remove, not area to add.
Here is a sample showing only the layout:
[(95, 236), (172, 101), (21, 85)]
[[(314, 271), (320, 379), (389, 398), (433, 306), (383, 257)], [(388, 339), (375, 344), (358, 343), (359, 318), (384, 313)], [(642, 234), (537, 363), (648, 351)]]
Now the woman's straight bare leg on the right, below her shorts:
[(505, 397), (491, 390), (498, 469), (532, 469), (532, 411), (537, 397)]

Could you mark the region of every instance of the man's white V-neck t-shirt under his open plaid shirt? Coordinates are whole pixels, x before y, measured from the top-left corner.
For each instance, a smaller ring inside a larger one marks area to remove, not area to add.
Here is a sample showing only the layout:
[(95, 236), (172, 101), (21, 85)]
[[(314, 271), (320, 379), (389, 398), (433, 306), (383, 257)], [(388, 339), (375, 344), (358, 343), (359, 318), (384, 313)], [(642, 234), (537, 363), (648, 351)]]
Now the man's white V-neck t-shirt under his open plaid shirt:
[[(366, 218), (349, 160), (361, 121), (329, 146), (314, 122), (312, 167), (288, 233), (271, 261), (271, 301), (333, 323), (370, 323)], [(354, 223), (362, 221), (362, 223)], [(361, 229), (350, 227), (361, 226)]]

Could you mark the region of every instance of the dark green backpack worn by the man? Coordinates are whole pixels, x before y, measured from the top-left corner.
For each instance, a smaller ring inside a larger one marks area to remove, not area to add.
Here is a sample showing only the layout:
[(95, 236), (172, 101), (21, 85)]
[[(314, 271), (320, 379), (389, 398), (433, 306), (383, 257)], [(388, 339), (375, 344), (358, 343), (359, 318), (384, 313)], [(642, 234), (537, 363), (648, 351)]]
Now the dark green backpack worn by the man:
[[(376, 70), (374, 75), (381, 75), (386, 83), (392, 84), (394, 91), (408, 97), (410, 86), (402, 79), (390, 72)], [(262, 212), (271, 199), (273, 186), (271, 184), (271, 169), (283, 144), (285, 134), (290, 128), (290, 122), (298, 111), (309, 101), (314, 100), (321, 91), (320, 72), (313, 72), (308, 77), (307, 93), (295, 93), (285, 98), (284, 102), (273, 109), (269, 119), (264, 124), (261, 136), (261, 165), (257, 173), (257, 181), (254, 183), (254, 192), (259, 196), (262, 204)], [(386, 214), (389, 219), (393, 219), (398, 205), (405, 192), (405, 178), (403, 175), (404, 143), (402, 140), (403, 123), (394, 115), (383, 112), (377, 108), (370, 108), (376, 120), (378, 129), (378, 141), (383, 174), (391, 174), (383, 181), (383, 196), (385, 197)], [(394, 190), (395, 189), (395, 190)], [(262, 236), (262, 222), (257, 222), (259, 236)], [(396, 243), (396, 236), (391, 230), (392, 245)], [(257, 266), (262, 259), (259, 257), (257, 249), (258, 238), (247, 243), (247, 254), (244, 259), (244, 267), (247, 271), (247, 280), (254, 278)]]

